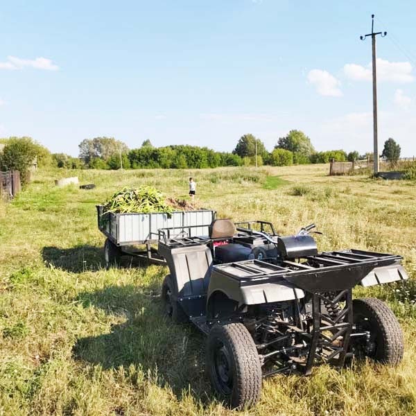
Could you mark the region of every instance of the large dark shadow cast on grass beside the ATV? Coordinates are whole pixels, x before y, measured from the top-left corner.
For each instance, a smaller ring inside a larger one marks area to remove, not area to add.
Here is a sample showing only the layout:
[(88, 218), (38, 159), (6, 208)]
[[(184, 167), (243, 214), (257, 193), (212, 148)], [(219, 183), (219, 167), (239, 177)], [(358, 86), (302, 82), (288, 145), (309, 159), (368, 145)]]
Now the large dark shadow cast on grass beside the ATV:
[(76, 300), (85, 308), (125, 317), (125, 322), (112, 326), (110, 333), (78, 339), (74, 358), (105, 370), (122, 368), (125, 373), (135, 365), (145, 375), (152, 374), (157, 385), (168, 385), (178, 399), (184, 391), (189, 394), (190, 388), (195, 399), (211, 401), (204, 337), (191, 325), (173, 324), (164, 318), (158, 296), (127, 285), (81, 293)]

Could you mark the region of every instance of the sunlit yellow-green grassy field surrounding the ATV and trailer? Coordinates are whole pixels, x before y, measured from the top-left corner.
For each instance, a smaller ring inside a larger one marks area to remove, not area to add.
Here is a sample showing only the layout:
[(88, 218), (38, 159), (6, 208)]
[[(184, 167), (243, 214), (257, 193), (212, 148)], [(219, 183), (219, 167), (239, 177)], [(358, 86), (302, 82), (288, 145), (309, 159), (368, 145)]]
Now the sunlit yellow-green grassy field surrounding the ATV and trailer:
[[(245, 414), (416, 414), (415, 182), (328, 171), (38, 171), (14, 201), (0, 203), (0, 415), (238, 414), (211, 392), (202, 336), (162, 316), (166, 268), (130, 267), (128, 259), (124, 268), (103, 268), (96, 203), (125, 185), (186, 196), (189, 175), (202, 205), (220, 217), (270, 220), (283, 234), (315, 222), (320, 250), (402, 254), (413, 279), (355, 293), (388, 301), (399, 317), (406, 354), (398, 368), (324, 365), (307, 378), (275, 376)], [(72, 175), (96, 189), (54, 187)]]

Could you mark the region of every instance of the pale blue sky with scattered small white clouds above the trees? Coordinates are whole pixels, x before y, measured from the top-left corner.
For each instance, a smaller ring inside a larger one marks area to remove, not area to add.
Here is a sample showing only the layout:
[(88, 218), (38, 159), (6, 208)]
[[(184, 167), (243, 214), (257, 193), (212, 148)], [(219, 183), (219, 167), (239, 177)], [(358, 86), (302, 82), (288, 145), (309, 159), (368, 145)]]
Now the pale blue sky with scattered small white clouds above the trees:
[(2, 1), (0, 137), (372, 151), (372, 13), (379, 146), (416, 156), (414, 1)]

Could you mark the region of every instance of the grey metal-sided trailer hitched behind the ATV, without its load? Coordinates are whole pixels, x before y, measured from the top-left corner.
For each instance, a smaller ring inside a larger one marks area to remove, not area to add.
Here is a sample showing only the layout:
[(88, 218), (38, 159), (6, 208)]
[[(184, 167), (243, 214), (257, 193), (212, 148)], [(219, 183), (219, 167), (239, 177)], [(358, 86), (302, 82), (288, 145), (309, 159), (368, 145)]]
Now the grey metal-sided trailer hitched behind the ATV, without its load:
[(104, 253), (107, 267), (118, 264), (123, 255), (164, 265), (164, 257), (153, 247), (159, 239), (208, 236), (209, 225), (216, 219), (216, 211), (211, 209), (149, 214), (114, 214), (105, 212), (103, 205), (97, 205), (96, 209), (98, 229), (106, 237)]

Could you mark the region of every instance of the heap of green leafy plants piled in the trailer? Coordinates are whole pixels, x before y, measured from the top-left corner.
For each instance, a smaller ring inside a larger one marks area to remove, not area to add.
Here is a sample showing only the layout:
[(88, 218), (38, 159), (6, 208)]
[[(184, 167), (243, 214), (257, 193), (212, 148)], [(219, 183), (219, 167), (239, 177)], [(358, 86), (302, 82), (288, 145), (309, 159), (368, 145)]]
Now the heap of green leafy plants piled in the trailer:
[(105, 202), (104, 212), (114, 212), (114, 214), (166, 212), (171, 214), (173, 207), (166, 202), (164, 194), (153, 187), (139, 187), (138, 189), (125, 187)]

